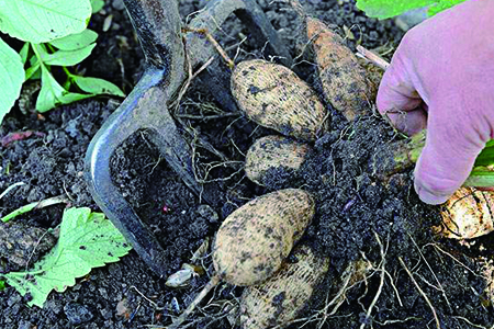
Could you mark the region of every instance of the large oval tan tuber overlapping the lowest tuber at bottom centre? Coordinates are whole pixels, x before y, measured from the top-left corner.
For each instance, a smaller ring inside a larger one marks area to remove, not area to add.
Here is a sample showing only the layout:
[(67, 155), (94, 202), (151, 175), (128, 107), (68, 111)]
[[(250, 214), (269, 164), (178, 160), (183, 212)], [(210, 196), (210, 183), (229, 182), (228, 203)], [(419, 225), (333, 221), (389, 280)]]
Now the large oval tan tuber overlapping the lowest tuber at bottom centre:
[(302, 237), (314, 211), (307, 192), (287, 189), (259, 196), (233, 212), (214, 241), (217, 275), (240, 286), (270, 277)]

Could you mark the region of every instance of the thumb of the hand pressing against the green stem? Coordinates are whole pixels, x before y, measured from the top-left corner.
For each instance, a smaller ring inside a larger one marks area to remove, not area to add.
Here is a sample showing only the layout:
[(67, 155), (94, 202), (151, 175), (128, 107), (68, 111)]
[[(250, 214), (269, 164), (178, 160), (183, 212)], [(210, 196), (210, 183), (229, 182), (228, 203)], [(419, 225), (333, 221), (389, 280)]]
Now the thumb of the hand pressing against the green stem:
[(415, 191), (428, 204), (446, 202), (463, 184), (486, 141), (468, 117), (440, 115), (430, 107), (426, 145), (414, 172)]

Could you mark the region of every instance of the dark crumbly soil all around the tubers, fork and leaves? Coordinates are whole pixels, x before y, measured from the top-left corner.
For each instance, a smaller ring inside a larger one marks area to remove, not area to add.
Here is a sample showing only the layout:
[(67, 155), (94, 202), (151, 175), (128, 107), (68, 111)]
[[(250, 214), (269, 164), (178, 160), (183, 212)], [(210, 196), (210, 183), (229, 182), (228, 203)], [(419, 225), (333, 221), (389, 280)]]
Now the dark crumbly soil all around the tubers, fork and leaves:
[[(301, 42), (294, 12), (281, 2), (259, 2), (292, 56), (297, 56)], [(187, 16), (204, 1), (180, 3), (181, 14)], [(348, 27), (352, 32), (347, 33), (351, 47), (356, 42), (367, 48), (392, 47), (403, 36), (391, 21), (367, 19), (347, 0), (307, 1), (306, 9), (341, 32), (343, 26)], [(110, 15), (111, 27), (103, 33), (103, 22)], [(122, 2), (108, 0), (104, 10), (93, 16), (91, 29), (100, 33), (99, 44), (77, 69), (108, 79), (128, 93), (138, 81), (144, 60)], [(216, 37), (225, 46), (248, 35), (237, 20), (229, 21), (224, 31)], [(261, 48), (262, 45), (246, 42), (237, 60), (268, 56)], [(232, 57), (235, 52), (232, 50)], [(311, 60), (310, 54), (301, 58)], [(294, 70), (317, 89), (314, 67), (307, 61), (301, 61)], [(14, 183), (24, 183), (0, 200), (0, 215), (57, 195), (69, 200), (67, 206), (98, 211), (83, 180), (83, 159), (92, 136), (119, 101), (100, 98), (63, 106), (43, 116), (33, 112), (24, 115), (15, 107), (0, 127), (0, 137), (19, 132), (35, 134), (0, 149), (0, 192)], [(380, 161), (375, 149), (397, 140), (398, 136), (371, 109), (368, 116), (349, 124), (327, 107), (333, 114), (332, 133), (315, 143), (315, 152), (302, 173), (289, 183), (273, 182), (265, 189), (249, 182), (242, 166), (254, 140), (272, 132), (242, 115), (215, 120), (184, 117), (183, 114), (223, 113), (211, 94), (192, 83), (182, 100), (181, 121), (228, 159), (228, 163), (222, 162), (184, 133), (195, 146), (198, 172), (202, 178), (209, 172), (205, 180), (220, 180), (218, 193), (225, 193), (227, 202), (218, 208), (201, 203), (186, 188), (145, 131), (119, 148), (112, 159), (114, 182), (165, 248), (167, 272), (175, 273), (183, 263), (190, 263), (192, 253), (205, 240), (211, 240), (221, 222), (248, 200), (283, 186), (300, 186), (311, 191), (317, 201), (316, 217), (303, 242), (314, 247), (321, 257), (329, 257), (332, 266), (317, 290), (319, 293), (302, 315), (305, 319), (293, 324), (293, 328), (303, 324), (306, 324), (304, 328), (318, 328), (323, 324), (323, 328), (341, 329), (359, 328), (361, 324), (368, 324), (367, 328), (436, 328), (424, 295), (431, 300), (441, 328), (492, 326), (492, 305), (483, 295), (485, 283), (473, 261), (480, 254), (479, 248), (468, 250), (456, 241), (438, 241), (430, 234), (429, 227), (439, 220), (437, 208), (417, 200), (409, 171), (383, 181), (374, 170)], [(42, 229), (55, 228), (65, 206), (34, 211), (13, 220)], [(489, 246), (490, 241), (490, 237), (479, 239), (476, 247)], [(3, 271), (12, 261), (9, 258), (9, 253), (0, 250)], [(330, 314), (334, 306), (326, 314), (321, 313), (339, 290), (349, 262), (361, 259), (372, 265), (366, 281), (347, 291), (346, 300), (334, 314)], [(207, 274), (212, 273), (211, 257), (205, 256), (198, 263)], [(417, 291), (405, 269), (413, 273), (424, 294)], [(384, 275), (382, 287), (381, 275)], [(43, 309), (27, 307), (25, 298), (7, 287), (0, 292), (0, 328), (160, 328), (169, 325), (206, 282), (207, 275), (203, 274), (192, 277), (183, 288), (167, 287), (165, 279), (155, 275), (131, 251), (117, 263), (94, 269), (66, 292), (52, 293)], [(189, 328), (234, 327), (235, 318), (224, 314), (236, 305), (240, 294), (242, 288), (217, 286), (203, 307), (191, 316), (193, 322)], [(366, 314), (377, 295), (379, 298), (368, 317)]]

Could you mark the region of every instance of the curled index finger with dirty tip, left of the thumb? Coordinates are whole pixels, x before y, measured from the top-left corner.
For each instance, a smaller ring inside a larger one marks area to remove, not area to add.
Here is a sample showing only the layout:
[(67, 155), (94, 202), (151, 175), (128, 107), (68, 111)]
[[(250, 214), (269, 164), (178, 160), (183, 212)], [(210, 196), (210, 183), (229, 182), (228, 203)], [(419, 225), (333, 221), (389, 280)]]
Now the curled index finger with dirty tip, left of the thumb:
[(426, 127), (427, 112), (422, 106), (423, 100), (408, 72), (404, 47), (406, 43), (398, 47), (384, 72), (378, 90), (377, 105), (394, 127), (414, 135)]

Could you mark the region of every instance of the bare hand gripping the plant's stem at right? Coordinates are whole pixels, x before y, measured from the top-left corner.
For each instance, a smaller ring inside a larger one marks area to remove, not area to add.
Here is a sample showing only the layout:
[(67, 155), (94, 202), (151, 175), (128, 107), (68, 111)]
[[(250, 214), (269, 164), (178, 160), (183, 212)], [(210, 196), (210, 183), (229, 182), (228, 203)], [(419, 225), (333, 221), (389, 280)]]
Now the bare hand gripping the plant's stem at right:
[(378, 109), (413, 135), (427, 127), (415, 168), (422, 201), (462, 185), (494, 138), (494, 1), (469, 0), (406, 33), (384, 73)]

